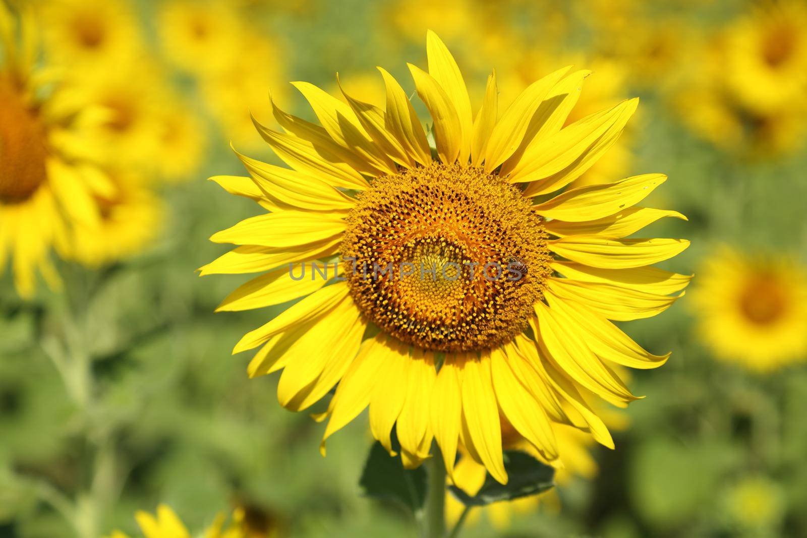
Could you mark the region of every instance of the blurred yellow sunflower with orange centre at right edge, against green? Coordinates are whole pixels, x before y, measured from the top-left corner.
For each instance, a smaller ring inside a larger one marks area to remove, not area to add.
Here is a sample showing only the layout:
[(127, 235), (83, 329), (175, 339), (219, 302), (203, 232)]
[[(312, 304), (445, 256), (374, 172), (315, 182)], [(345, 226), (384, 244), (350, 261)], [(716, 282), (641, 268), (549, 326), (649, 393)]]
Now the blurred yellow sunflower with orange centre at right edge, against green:
[(807, 271), (795, 261), (723, 248), (694, 294), (698, 332), (719, 359), (758, 372), (805, 359)]

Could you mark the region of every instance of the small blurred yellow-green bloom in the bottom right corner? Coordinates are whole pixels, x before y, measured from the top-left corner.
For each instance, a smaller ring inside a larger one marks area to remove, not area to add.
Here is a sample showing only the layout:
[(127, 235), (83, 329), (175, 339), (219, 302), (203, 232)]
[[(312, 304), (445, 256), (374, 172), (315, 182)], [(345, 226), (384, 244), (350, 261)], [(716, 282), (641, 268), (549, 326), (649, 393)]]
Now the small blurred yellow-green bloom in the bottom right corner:
[(770, 478), (742, 478), (725, 495), (725, 508), (739, 528), (774, 530), (784, 517), (784, 490)]

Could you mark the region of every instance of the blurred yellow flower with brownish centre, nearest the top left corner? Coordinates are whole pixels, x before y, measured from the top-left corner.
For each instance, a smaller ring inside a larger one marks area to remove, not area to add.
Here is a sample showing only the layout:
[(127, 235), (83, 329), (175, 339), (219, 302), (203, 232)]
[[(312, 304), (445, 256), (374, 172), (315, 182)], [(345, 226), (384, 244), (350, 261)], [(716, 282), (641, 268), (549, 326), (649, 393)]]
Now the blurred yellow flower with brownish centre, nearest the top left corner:
[(49, 0), (40, 6), (48, 57), (67, 76), (121, 69), (142, 52), (127, 0)]

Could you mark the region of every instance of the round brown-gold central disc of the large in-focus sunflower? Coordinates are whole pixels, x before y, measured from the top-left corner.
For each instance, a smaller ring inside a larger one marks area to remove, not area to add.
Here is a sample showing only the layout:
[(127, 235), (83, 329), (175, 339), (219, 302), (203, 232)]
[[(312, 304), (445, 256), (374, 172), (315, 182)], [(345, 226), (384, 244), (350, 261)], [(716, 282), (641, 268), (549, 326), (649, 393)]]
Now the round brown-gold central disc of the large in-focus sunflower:
[(511, 340), (551, 272), (529, 199), (475, 167), (378, 177), (347, 225), (342, 257), (353, 300), (383, 331), (433, 351)]

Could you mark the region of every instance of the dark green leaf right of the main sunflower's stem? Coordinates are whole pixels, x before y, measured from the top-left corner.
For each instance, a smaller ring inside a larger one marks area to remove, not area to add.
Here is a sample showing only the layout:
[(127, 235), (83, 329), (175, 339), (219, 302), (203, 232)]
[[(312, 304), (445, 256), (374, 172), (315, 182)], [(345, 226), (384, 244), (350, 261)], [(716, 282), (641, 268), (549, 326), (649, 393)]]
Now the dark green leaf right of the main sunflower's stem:
[(504, 469), (508, 473), (507, 484), (496, 482), (495, 478), (488, 474), (482, 489), (475, 495), (469, 495), (457, 486), (449, 486), (449, 490), (462, 504), (482, 507), (498, 501), (529, 497), (554, 487), (554, 469), (529, 454), (506, 451)]

